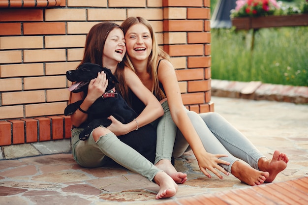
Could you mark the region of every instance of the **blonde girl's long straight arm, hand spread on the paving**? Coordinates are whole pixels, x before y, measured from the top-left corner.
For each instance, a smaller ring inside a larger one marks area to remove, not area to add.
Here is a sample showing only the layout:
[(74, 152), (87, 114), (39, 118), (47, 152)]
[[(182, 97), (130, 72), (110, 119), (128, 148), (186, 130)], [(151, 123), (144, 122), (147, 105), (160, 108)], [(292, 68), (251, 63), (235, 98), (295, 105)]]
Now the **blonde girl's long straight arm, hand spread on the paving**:
[(175, 69), (168, 60), (161, 60), (158, 69), (158, 79), (162, 83), (166, 92), (172, 119), (182, 132), (196, 156), (200, 170), (208, 177), (211, 177), (211, 175), (206, 171), (206, 169), (213, 172), (219, 178), (222, 178), (222, 176), (216, 171), (216, 169), (228, 175), (227, 171), (218, 165), (229, 164), (224, 160), (218, 159), (225, 155), (214, 155), (205, 150), (200, 137), (187, 116), (185, 107), (183, 106)]

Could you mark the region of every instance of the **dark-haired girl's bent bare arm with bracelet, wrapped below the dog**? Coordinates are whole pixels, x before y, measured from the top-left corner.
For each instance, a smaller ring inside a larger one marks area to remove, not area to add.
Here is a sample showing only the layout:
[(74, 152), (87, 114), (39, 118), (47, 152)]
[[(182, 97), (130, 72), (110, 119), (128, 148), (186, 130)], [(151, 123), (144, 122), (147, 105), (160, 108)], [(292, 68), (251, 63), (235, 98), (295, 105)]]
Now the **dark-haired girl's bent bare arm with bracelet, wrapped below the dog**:
[(164, 114), (161, 104), (151, 91), (146, 88), (138, 76), (131, 69), (125, 67), (124, 69), (126, 85), (134, 92), (134, 94), (146, 105), (145, 109), (140, 113), (136, 120), (132, 120), (127, 124), (122, 124), (114, 117), (109, 117), (112, 124), (107, 128), (116, 135), (127, 134), (138, 127), (142, 127), (153, 122), (158, 117)]

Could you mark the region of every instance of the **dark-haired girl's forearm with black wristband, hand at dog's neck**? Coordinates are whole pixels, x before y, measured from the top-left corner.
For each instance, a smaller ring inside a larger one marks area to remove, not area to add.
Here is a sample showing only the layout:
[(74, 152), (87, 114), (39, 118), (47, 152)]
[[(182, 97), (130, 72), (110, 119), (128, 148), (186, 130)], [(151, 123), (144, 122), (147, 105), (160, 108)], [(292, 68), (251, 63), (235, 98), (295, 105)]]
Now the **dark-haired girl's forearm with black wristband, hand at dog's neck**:
[[(83, 111), (88, 111), (90, 106), (99, 98), (102, 93), (105, 92), (108, 86), (108, 80), (106, 80), (106, 74), (102, 71), (97, 74), (97, 78), (92, 79), (89, 83), (88, 94), (86, 98), (83, 92), (72, 93), (71, 103), (83, 100), (80, 105), (80, 109)], [(79, 127), (84, 121), (87, 120), (88, 114), (81, 112), (77, 109), (71, 116), (71, 122), (74, 126)]]

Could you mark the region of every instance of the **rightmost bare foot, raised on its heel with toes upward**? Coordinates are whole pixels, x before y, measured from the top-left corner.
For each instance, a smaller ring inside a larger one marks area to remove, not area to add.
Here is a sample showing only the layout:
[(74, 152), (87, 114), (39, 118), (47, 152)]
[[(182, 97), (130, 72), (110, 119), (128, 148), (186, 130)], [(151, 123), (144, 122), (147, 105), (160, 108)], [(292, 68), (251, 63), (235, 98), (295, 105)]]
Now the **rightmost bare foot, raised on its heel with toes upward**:
[(272, 159), (262, 157), (258, 161), (259, 170), (269, 172), (270, 176), (266, 178), (265, 182), (272, 182), (276, 176), (287, 167), (289, 158), (286, 154), (280, 153), (276, 150)]

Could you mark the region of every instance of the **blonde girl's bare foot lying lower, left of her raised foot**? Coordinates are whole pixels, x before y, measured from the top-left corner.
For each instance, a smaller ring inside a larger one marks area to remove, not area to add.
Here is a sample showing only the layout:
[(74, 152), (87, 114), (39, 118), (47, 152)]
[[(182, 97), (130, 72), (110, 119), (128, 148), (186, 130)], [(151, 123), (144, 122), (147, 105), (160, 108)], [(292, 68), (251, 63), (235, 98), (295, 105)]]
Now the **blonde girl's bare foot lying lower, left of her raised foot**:
[(267, 177), (270, 176), (268, 172), (253, 169), (242, 161), (233, 163), (231, 174), (250, 186), (263, 184)]

